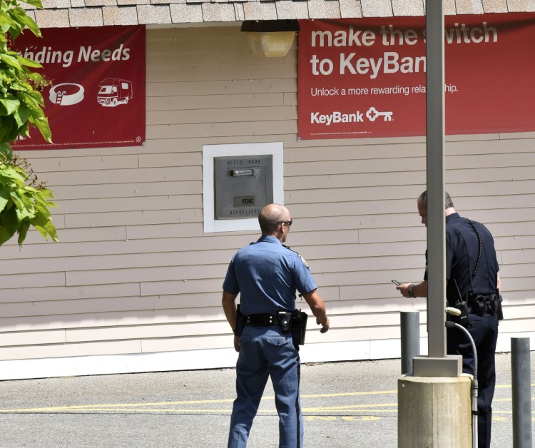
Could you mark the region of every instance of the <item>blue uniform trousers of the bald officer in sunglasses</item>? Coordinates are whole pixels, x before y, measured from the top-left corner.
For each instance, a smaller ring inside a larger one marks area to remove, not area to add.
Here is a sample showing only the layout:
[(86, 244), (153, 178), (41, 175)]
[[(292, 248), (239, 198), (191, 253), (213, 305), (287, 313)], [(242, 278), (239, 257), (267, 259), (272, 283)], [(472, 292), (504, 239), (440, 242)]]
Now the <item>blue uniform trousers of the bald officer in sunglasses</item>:
[(290, 333), (280, 327), (245, 326), (236, 364), (237, 398), (230, 419), (228, 448), (245, 447), (260, 399), (271, 377), (279, 414), (279, 447), (301, 448), (300, 360)]

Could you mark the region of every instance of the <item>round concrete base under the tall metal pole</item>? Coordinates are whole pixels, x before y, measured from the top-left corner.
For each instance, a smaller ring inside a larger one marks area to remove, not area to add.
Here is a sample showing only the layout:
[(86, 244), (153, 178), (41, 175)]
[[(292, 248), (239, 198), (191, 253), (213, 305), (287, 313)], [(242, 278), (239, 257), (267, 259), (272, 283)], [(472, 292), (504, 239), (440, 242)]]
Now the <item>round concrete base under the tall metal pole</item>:
[(472, 376), (397, 380), (398, 448), (472, 447)]

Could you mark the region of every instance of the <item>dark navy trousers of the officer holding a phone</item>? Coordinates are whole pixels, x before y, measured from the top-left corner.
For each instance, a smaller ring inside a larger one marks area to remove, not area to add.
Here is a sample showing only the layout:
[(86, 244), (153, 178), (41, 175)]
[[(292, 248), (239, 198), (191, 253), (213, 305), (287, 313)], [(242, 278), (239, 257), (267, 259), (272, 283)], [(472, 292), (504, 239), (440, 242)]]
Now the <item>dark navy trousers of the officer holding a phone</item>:
[[(477, 443), (479, 448), (489, 448), (491, 439), (492, 397), (496, 385), (496, 340), (498, 318), (496, 315), (469, 314), (467, 328), (477, 348)], [(462, 355), (462, 371), (474, 375), (474, 353), (467, 335), (457, 328), (448, 328), (449, 355)]]

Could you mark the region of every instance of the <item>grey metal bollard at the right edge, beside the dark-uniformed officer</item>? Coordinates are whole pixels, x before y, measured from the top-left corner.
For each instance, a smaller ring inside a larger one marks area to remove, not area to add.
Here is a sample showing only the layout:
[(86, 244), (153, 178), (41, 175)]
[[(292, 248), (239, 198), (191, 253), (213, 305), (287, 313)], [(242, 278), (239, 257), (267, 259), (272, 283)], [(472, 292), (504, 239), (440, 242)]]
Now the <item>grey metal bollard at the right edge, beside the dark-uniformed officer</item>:
[(513, 447), (531, 448), (531, 362), (529, 337), (511, 337)]

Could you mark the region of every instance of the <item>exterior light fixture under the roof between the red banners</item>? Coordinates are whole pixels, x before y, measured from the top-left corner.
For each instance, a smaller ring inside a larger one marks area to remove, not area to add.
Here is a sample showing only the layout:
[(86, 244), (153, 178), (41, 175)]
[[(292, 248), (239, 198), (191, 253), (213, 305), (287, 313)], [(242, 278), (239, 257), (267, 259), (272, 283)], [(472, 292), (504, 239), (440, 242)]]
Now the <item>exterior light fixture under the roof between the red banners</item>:
[(247, 34), (251, 51), (267, 57), (286, 56), (299, 31), (297, 20), (246, 20), (241, 31)]

